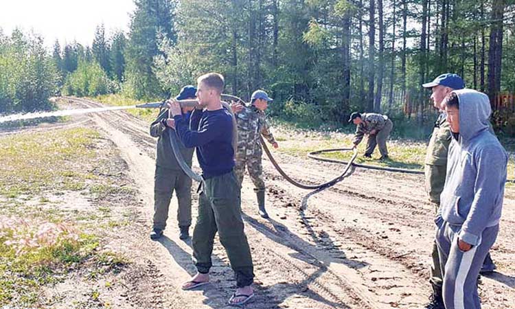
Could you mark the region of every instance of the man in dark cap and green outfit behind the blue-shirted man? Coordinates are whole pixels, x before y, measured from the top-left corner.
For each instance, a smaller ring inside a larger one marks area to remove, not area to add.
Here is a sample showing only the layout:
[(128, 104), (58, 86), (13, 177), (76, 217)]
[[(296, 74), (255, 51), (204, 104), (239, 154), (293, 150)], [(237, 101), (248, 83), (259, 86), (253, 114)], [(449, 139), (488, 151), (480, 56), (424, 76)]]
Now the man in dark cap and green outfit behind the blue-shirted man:
[[(188, 85), (181, 89), (176, 100), (186, 100), (196, 98), (196, 88)], [(161, 115), (165, 108), (170, 108), (170, 104), (165, 104), (159, 111)], [(184, 107), (183, 113), (189, 117), (190, 111), (194, 107)], [(168, 115), (168, 113), (166, 113)], [(179, 238), (186, 239), (190, 237), (189, 229), (192, 224), (192, 179), (188, 177), (181, 166), (175, 159), (172, 145), (170, 145), (169, 134), (176, 134), (170, 128), (174, 127), (174, 119), (156, 119), (150, 124), (150, 135), (157, 137), (156, 151), (156, 171), (154, 177), (154, 217), (153, 227), (150, 232), (150, 238), (157, 240), (163, 236), (163, 230), (166, 227), (168, 219), (168, 208), (172, 194), (175, 190), (179, 207), (177, 207), (177, 222), (181, 233)], [(181, 153), (187, 165), (192, 166), (192, 157), (194, 148), (185, 148), (182, 143)]]

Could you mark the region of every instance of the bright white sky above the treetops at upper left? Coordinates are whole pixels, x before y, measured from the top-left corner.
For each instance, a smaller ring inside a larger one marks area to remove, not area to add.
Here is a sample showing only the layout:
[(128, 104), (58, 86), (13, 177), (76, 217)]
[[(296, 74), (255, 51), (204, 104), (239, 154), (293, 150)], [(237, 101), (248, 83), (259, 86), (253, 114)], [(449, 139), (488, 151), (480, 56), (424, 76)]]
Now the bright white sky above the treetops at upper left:
[(47, 47), (56, 39), (61, 47), (73, 40), (91, 46), (101, 23), (107, 37), (115, 30), (128, 32), (134, 10), (133, 0), (0, 0), (0, 28), (8, 35), (15, 27), (34, 30)]

